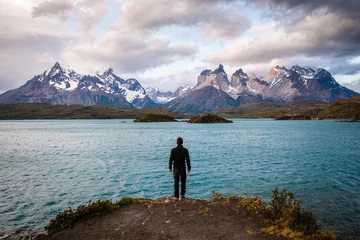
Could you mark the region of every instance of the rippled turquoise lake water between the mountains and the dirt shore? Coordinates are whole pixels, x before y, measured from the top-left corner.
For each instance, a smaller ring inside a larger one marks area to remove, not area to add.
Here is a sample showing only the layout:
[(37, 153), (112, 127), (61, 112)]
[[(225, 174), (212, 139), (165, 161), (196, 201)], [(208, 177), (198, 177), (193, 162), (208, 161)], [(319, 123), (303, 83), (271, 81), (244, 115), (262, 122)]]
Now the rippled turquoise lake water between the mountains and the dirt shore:
[(90, 199), (171, 195), (178, 136), (192, 161), (187, 197), (216, 190), (269, 200), (285, 187), (324, 229), (360, 236), (360, 124), (270, 119), (0, 121), (0, 232), (43, 228)]

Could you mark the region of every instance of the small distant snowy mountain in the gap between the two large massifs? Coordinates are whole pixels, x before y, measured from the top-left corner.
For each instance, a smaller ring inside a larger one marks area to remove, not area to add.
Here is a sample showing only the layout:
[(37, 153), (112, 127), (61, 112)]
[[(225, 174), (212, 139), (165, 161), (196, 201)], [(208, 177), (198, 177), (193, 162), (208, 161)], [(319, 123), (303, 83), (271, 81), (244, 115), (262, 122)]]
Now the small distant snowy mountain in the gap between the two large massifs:
[(153, 88), (153, 87), (147, 87), (145, 90), (148, 96), (151, 98), (151, 100), (153, 100), (155, 103), (165, 104), (174, 100), (175, 98), (178, 98), (186, 94), (191, 90), (191, 87), (189, 85), (181, 86), (178, 87), (174, 92), (171, 91), (165, 92), (158, 88)]

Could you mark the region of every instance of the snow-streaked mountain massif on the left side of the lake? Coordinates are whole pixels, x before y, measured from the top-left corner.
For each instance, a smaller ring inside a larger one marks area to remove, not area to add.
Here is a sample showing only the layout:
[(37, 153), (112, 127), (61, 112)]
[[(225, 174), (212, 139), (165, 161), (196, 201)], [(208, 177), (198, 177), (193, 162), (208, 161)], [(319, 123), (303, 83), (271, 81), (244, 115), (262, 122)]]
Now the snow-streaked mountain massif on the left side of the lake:
[(1, 103), (47, 102), (51, 104), (103, 104), (118, 107), (153, 107), (136, 79), (124, 80), (110, 68), (95, 75), (76, 73), (74, 69), (55, 65), (27, 81), (23, 86), (0, 95)]

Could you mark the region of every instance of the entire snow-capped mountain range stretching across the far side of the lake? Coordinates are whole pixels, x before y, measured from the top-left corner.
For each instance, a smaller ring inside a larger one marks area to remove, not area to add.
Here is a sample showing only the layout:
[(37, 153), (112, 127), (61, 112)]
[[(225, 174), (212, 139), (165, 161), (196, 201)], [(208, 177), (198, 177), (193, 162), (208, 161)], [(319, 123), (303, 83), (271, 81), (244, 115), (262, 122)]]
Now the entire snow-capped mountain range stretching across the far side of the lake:
[(166, 107), (179, 113), (211, 112), (250, 102), (288, 102), (312, 99), (333, 102), (360, 96), (341, 86), (322, 68), (276, 66), (266, 77), (246, 74), (240, 68), (229, 80), (220, 64), (200, 73), (197, 84), (181, 86), (175, 92), (143, 88), (134, 78), (123, 79), (113, 69), (79, 74), (57, 62), (23, 86), (0, 95), (0, 103), (45, 102), (57, 105), (96, 105), (123, 108)]

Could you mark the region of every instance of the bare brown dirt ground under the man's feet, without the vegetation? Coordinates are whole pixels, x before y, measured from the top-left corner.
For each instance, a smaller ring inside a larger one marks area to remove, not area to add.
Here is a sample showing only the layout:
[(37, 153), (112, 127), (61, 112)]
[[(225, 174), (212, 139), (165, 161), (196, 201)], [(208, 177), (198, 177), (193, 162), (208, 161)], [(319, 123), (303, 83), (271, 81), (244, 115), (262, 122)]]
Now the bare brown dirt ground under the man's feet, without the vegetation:
[(164, 198), (148, 203), (133, 203), (103, 217), (79, 222), (53, 236), (37, 240), (202, 240), (202, 239), (281, 239), (261, 233), (264, 218), (237, 201), (205, 201)]

